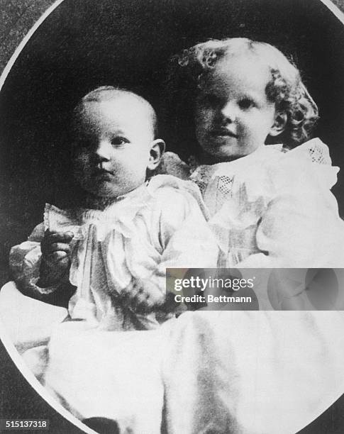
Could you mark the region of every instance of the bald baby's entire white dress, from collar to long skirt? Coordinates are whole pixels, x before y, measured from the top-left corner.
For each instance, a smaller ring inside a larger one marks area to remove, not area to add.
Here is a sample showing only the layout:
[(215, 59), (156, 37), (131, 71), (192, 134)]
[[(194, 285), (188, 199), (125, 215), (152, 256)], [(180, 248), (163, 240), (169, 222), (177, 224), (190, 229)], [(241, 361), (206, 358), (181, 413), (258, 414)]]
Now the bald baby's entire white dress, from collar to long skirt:
[[(9, 282), (0, 292), (9, 334), (50, 394), (77, 418), (111, 418), (123, 432), (160, 433), (161, 360), (176, 320), (157, 327), (154, 314), (138, 315), (116, 294), (130, 290), (133, 279), (149, 279), (165, 296), (167, 267), (216, 267), (218, 245), (199, 190), (158, 175), (105, 211), (47, 206), (45, 223), (11, 252), (13, 272), (31, 294), (59, 289), (36, 285), (45, 228), (74, 233), (76, 293), (67, 312), (23, 296)], [(62, 321), (67, 313), (84, 321)]]

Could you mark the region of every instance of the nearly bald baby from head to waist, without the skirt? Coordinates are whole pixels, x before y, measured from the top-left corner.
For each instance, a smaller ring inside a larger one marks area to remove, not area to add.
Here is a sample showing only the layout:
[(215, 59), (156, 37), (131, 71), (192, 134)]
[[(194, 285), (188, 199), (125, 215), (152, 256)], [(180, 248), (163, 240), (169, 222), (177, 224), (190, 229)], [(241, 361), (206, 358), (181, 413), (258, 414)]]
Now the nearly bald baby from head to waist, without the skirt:
[(82, 206), (45, 206), (44, 223), (11, 250), (13, 276), (41, 301), (76, 288), (70, 317), (101, 329), (156, 328), (169, 318), (165, 269), (216, 267), (201, 197), (192, 182), (149, 179), (165, 143), (152, 106), (131, 91), (91, 91), (72, 131)]

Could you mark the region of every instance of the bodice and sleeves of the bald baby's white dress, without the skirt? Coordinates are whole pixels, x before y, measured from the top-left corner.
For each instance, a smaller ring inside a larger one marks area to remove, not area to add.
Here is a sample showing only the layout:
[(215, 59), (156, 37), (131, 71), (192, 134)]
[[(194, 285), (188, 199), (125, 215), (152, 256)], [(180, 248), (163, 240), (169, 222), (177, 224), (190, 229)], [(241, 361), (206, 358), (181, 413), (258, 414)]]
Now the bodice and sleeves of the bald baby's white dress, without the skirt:
[(155, 313), (135, 313), (121, 296), (140, 280), (159, 289), (163, 301), (166, 268), (216, 267), (218, 247), (202, 208), (192, 182), (167, 175), (153, 177), (104, 211), (63, 211), (47, 205), (44, 223), (28, 241), (12, 248), (11, 268), (26, 292), (58, 291), (59, 285), (36, 285), (40, 241), (46, 229), (70, 230), (70, 283), (77, 287), (70, 299), (70, 317), (105, 330), (156, 328)]

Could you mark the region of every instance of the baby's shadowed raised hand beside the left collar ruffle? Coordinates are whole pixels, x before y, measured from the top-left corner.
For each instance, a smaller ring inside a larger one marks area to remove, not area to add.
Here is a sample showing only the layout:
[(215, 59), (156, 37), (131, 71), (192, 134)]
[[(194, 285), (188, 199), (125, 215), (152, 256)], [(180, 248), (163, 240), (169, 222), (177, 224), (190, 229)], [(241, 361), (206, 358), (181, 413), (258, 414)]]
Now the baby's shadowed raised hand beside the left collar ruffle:
[(70, 267), (70, 242), (72, 232), (46, 230), (40, 243), (42, 259), (38, 286), (47, 287), (60, 282)]

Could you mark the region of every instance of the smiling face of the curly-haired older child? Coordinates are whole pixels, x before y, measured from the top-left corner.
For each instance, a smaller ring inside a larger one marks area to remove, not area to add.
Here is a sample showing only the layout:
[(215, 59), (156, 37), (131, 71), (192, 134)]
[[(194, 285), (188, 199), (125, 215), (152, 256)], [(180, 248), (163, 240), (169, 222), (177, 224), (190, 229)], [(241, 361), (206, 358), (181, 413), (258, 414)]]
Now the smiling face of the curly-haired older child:
[(265, 88), (267, 66), (247, 55), (218, 60), (196, 99), (196, 138), (218, 162), (243, 157), (264, 145), (274, 124)]

